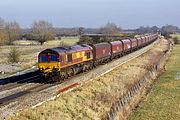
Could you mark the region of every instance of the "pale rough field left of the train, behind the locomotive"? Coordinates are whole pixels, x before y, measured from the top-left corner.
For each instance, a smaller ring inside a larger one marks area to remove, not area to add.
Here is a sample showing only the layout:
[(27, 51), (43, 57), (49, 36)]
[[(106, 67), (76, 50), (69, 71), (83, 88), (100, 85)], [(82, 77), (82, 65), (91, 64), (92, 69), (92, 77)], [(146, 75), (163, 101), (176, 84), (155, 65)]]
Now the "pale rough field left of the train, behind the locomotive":
[[(14, 46), (0, 46), (0, 71), (11, 74), (23, 69), (27, 69), (37, 64), (38, 53), (44, 49), (58, 47), (61, 43), (73, 45), (79, 41), (78, 37), (62, 37), (61, 40), (51, 40), (40, 45), (36, 41), (20, 40), (15, 41)], [(8, 53), (11, 48), (16, 47), (20, 52), (20, 62), (18, 64), (10, 64), (8, 62)], [(2, 75), (0, 74), (0, 77)]]

